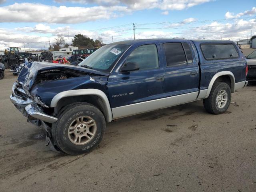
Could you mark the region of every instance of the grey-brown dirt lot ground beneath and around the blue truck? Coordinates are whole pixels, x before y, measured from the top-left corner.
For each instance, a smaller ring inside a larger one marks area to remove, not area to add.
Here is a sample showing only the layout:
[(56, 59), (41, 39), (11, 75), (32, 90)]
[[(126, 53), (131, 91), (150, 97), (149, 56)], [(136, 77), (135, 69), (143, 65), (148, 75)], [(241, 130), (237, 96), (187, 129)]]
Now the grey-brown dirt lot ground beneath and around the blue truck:
[(256, 191), (256, 86), (232, 94), (222, 115), (197, 101), (112, 122), (96, 150), (68, 156), (49, 151), (42, 130), (11, 104), (8, 73), (0, 80), (1, 192)]

